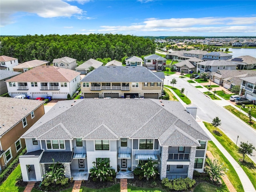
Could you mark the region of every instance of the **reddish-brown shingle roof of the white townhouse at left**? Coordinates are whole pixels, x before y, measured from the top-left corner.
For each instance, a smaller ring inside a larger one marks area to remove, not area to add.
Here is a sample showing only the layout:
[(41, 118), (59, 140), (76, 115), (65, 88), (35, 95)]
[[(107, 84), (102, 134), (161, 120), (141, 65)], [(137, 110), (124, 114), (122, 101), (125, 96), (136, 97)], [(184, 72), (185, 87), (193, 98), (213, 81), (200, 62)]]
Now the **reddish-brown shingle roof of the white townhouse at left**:
[(6, 82), (70, 82), (80, 73), (56, 66), (37, 66)]

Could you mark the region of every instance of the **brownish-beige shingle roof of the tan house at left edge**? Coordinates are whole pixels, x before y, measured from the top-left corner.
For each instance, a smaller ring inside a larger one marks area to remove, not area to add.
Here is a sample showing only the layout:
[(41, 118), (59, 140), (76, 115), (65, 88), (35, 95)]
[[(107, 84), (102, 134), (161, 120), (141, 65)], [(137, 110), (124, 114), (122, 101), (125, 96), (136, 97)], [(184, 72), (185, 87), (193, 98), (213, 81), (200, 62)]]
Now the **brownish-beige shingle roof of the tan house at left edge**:
[(32, 99), (0, 97), (0, 136), (43, 103)]

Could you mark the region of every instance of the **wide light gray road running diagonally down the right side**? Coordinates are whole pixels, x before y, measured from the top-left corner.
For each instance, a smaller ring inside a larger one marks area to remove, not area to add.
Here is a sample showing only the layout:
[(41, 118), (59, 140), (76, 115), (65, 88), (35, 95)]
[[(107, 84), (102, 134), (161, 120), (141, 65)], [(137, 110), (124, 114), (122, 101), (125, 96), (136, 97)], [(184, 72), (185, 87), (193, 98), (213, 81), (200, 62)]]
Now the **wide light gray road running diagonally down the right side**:
[[(178, 89), (185, 88), (184, 94), (186, 94), (187, 97), (192, 101), (192, 104), (190, 104), (190, 106), (196, 106), (198, 108), (197, 119), (212, 123), (212, 119), (218, 116), (222, 123), (218, 127), (222, 129), (231, 140), (236, 143), (236, 140), (239, 136), (237, 142), (238, 145), (241, 141), (248, 141), (256, 147), (256, 131), (222, 107), (225, 105), (230, 105), (228, 101), (211, 100), (193, 85), (188, 83), (187, 78), (185, 80), (185, 78), (179, 78), (177, 75), (165, 76), (165, 78), (165, 85), (167, 85), (167, 83), (169, 82), (169, 86), (172, 86), (170, 84), (170, 81), (173, 78), (176, 78), (177, 84), (175, 84), (174, 87)], [(253, 155), (254, 156), (252, 156), (252, 159), (256, 162), (255, 150), (253, 152)]]

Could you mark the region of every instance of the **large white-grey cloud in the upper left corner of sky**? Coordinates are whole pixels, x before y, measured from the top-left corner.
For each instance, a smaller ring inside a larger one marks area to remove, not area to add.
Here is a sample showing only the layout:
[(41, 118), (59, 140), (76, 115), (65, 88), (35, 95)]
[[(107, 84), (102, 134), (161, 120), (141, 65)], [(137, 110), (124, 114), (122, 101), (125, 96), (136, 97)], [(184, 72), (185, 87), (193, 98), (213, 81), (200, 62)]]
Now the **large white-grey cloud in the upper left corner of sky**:
[(2, 26), (14, 23), (13, 15), (16, 13), (37, 14), (43, 18), (69, 18), (85, 13), (77, 6), (72, 6), (62, 0), (1, 0), (0, 9)]

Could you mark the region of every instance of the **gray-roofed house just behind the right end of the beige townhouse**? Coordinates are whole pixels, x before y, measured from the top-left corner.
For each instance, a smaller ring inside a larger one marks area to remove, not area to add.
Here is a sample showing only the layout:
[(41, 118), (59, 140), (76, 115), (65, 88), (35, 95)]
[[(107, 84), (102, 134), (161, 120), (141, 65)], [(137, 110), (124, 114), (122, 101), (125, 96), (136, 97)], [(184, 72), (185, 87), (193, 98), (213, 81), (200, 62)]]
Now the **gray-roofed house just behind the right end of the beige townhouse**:
[(152, 54), (144, 57), (144, 67), (150, 70), (162, 71), (166, 66), (166, 58)]

